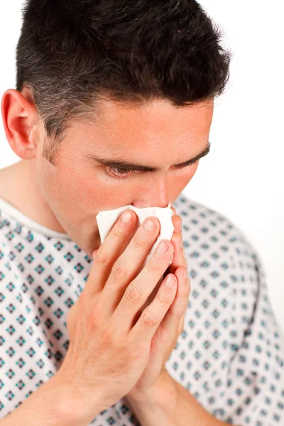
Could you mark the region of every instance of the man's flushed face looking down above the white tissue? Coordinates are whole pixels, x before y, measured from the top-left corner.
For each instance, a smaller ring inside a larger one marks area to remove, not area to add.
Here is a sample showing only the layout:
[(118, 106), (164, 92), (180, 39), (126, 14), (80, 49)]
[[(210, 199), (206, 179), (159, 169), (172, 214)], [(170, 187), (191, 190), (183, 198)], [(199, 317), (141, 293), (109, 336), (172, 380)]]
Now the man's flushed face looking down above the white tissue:
[[(213, 109), (213, 101), (180, 108), (165, 101), (138, 108), (106, 102), (102, 124), (72, 123), (56, 166), (37, 155), (40, 190), (72, 240), (92, 256), (101, 244), (96, 220), (100, 211), (126, 204), (143, 208), (173, 203), (195, 174), (198, 161), (185, 168), (175, 165), (207, 148)], [(161, 170), (111, 170), (92, 156)]]

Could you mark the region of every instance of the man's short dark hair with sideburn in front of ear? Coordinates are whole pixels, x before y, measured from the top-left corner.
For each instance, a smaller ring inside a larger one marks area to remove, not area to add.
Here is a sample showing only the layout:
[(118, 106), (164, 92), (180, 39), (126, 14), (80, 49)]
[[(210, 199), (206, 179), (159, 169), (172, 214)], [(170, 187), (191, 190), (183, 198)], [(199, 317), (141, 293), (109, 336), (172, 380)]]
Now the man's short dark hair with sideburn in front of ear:
[(26, 0), (16, 89), (30, 87), (53, 162), (71, 118), (99, 118), (99, 101), (214, 99), (229, 80), (231, 51), (195, 0)]

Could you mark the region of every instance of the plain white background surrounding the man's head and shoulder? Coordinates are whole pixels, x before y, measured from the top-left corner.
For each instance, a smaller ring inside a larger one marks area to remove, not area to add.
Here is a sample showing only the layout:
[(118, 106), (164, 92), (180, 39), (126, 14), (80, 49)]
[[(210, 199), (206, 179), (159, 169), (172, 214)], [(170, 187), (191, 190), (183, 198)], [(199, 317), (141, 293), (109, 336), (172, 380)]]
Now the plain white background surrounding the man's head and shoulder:
[[(224, 31), (231, 77), (216, 100), (211, 151), (185, 195), (216, 209), (246, 234), (263, 262), (275, 317), (284, 329), (283, 4), (202, 0)], [(0, 3), (0, 95), (15, 88), (22, 0)], [(282, 9), (282, 11), (280, 10)], [(0, 168), (16, 163), (0, 126)]]

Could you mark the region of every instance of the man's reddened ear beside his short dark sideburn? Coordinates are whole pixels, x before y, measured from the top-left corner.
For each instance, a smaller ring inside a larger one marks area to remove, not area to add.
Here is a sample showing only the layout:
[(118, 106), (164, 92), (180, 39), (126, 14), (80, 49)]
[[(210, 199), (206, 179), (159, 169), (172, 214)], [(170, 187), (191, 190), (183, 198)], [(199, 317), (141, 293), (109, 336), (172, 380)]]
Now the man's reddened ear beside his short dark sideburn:
[(25, 87), (22, 92), (6, 90), (2, 97), (1, 112), (6, 138), (13, 152), (23, 160), (35, 158), (40, 140), (40, 116), (31, 89)]

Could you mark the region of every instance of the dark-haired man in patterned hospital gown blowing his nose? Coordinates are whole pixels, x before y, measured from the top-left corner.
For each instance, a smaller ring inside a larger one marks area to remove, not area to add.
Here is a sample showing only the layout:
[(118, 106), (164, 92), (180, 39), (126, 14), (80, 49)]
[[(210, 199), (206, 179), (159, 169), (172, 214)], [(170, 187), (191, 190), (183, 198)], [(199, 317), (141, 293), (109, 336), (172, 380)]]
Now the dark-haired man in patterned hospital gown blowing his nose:
[[(219, 37), (196, 1), (26, 2), (16, 90), (1, 103), (21, 161), (0, 170), (0, 425), (282, 424), (283, 336), (258, 254), (182, 195), (229, 77)], [(126, 289), (157, 283), (128, 274), (158, 223), (135, 234), (133, 215), (127, 238), (117, 222), (101, 244), (95, 218), (170, 202), (172, 299), (134, 368), (136, 345), (126, 356), (115, 334), (138, 306)]]

